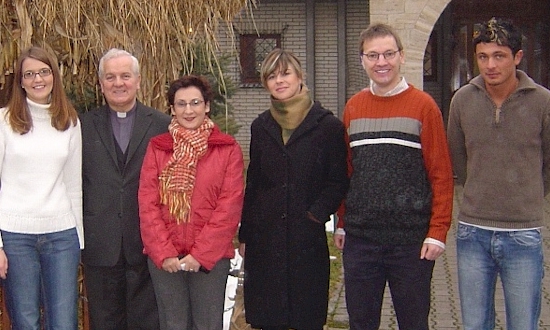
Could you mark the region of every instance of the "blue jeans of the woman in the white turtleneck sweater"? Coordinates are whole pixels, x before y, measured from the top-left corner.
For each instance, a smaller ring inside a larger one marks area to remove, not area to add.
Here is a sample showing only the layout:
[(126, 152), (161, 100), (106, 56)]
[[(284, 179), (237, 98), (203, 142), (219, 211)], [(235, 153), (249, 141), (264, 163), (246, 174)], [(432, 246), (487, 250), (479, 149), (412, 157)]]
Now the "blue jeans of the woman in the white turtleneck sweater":
[(8, 257), (6, 303), (14, 330), (78, 329), (78, 263), (76, 229), (48, 234), (2, 231)]

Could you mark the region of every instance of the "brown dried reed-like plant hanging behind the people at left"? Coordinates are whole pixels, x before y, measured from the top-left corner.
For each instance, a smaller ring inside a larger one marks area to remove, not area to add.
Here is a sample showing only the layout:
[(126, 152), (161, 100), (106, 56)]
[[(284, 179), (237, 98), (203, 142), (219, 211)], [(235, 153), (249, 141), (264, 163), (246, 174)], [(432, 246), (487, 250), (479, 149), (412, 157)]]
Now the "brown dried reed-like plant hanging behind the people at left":
[[(40, 45), (59, 61), (67, 90), (95, 90), (102, 54), (118, 47), (141, 64), (140, 100), (166, 108), (166, 84), (193, 69), (196, 43), (207, 45), (212, 72), (218, 32), (234, 40), (232, 21), (256, 0), (0, 0), (0, 89), (6, 87), (22, 49)], [(216, 72), (218, 71), (218, 72)], [(6, 93), (4, 92), (4, 95)]]

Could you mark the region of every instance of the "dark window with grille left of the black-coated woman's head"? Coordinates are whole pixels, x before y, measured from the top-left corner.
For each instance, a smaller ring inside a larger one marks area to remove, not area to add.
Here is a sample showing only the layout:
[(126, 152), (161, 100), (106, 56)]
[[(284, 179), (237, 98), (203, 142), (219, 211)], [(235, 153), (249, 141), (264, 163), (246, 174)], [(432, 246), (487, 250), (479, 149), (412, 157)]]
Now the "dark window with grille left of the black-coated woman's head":
[(265, 56), (274, 48), (281, 47), (280, 34), (241, 34), (241, 83), (260, 84), (260, 67)]

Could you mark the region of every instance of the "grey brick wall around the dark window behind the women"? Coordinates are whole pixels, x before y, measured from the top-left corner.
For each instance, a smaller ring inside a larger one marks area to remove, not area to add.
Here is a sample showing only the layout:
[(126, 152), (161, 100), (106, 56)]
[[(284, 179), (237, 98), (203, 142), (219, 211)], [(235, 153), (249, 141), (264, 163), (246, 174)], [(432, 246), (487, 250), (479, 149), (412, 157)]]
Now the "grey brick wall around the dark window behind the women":
[[(367, 85), (368, 79), (358, 60), (357, 41), (359, 33), (368, 25), (368, 0), (351, 0), (346, 2), (346, 61), (348, 79), (346, 100)], [(338, 109), (337, 78), (337, 4), (336, 2), (317, 2), (315, 5), (315, 82), (308, 81), (306, 62), (306, 7), (305, 3), (284, 4), (260, 3), (253, 9), (254, 21), (259, 32), (262, 26), (274, 29), (284, 29), (282, 47), (293, 51), (306, 69), (306, 84), (314, 87), (315, 99), (334, 113), (341, 113)], [(246, 12), (241, 13), (235, 22), (238, 29), (241, 26), (250, 26), (250, 17)], [(238, 36), (237, 36), (238, 37)], [(238, 58), (238, 45), (232, 43), (226, 31), (220, 33), (218, 39), (221, 51), (230, 53)], [(230, 76), (239, 82), (239, 65), (235, 60), (230, 66)], [(314, 85), (313, 85), (314, 84)], [(240, 88), (230, 100), (234, 106), (234, 115), (241, 125), (236, 135), (241, 144), (243, 154), (248, 160), (250, 144), (250, 124), (262, 111), (269, 107), (269, 94), (262, 87)]]

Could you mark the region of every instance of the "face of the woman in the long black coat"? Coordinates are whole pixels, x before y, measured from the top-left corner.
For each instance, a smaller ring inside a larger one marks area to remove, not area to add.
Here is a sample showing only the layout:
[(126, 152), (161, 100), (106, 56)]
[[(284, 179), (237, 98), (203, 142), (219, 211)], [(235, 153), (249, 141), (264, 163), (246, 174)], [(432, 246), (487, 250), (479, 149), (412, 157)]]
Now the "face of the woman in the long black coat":
[(267, 90), (274, 99), (285, 101), (300, 92), (302, 79), (292, 65), (284, 71), (273, 71), (266, 79)]

